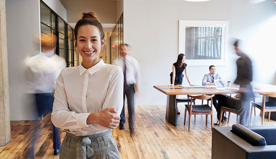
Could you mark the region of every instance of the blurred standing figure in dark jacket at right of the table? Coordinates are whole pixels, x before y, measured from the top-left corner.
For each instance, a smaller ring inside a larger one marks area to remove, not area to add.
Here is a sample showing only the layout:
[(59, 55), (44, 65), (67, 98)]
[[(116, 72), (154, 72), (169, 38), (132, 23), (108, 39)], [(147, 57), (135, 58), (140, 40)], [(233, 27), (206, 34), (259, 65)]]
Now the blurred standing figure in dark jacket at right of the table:
[(254, 97), (254, 93), (251, 87), (252, 81), (252, 64), (249, 57), (239, 49), (239, 41), (236, 40), (234, 47), (236, 54), (240, 56), (237, 60), (237, 78), (234, 83), (240, 85), (239, 93), (241, 94), (242, 107), (239, 110), (240, 124), (248, 125), (250, 101), (249, 99)]

